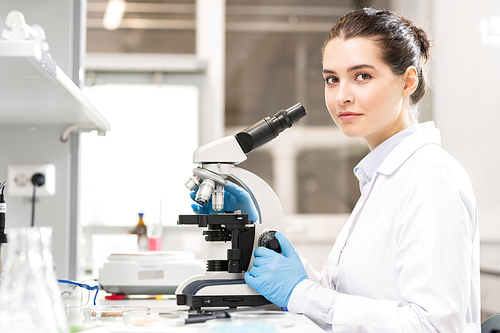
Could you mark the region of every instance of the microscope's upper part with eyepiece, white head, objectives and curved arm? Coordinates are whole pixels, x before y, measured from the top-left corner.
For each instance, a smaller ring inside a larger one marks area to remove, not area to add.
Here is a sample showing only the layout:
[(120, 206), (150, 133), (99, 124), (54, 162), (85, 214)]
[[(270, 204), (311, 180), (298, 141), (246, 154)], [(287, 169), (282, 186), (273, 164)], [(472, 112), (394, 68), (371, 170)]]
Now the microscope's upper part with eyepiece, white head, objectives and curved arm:
[[(227, 136), (199, 147), (193, 154), (193, 163), (201, 165), (202, 169), (213, 174), (196, 175), (196, 171), (201, 170), (195, 169), (194, 177), (190, 178), (186, 186), (190, 190), (198, 187), (196, 200), (203, 199), (207, 202), (212, 193), (213, 208), (215, 211), (221, 211), (224, 200), (223, 186), (226, 184), (219, 175), (224, 178), (231, 176), (250, 194), (257, 207), (259, 221), (255, 224), (256, 234), (260, 235), (260, 232), (268, 229), (284, 233), (283, 209), (272, 188), (255, 174), (235, 165), (246, 160), (248, 153), (276, 138), (279, 133), (305, 115), (306, 110), (298, 103), (286, 110), (278, 111), (272, 118), (262, 119), (235, 136)], [(198, 193), (203, 194), (199, 199)]]

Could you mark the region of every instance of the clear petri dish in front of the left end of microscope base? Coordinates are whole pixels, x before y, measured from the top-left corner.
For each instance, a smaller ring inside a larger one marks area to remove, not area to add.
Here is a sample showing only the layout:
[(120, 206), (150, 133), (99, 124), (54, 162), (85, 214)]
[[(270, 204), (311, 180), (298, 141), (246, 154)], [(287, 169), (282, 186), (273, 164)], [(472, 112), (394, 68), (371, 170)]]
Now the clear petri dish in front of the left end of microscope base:
[(123, 314), (123, 322), (127, 326), (182, 326), (188, 316), (185, 311), (131, 311)]

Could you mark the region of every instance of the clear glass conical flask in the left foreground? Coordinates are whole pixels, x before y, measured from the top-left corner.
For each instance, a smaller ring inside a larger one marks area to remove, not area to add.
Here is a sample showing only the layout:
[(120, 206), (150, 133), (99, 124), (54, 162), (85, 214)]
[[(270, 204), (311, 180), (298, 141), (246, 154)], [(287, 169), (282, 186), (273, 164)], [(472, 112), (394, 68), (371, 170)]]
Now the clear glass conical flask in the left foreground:
[(0, 286), (0, 332), (69, 332), (51, 251), (52, 228), (10, 229)]

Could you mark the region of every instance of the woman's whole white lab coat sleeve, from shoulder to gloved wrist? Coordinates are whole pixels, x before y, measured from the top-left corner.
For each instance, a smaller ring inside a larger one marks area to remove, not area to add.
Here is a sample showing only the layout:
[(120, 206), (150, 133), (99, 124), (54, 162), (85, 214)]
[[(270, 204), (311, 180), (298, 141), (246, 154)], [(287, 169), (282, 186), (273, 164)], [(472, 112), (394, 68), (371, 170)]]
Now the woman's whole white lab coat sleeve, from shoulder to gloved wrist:
[(477, 323), (465, 327), (477, 214), (472, 191), (460, 183), (468, 177), (435, 165), (417, 171), (423, 176), (407, 177), (394, 212), (395, 288), (405, 301), (340, 294), (306, 280), (293, 291), (290, 311), (333, 332), (475, 331)]

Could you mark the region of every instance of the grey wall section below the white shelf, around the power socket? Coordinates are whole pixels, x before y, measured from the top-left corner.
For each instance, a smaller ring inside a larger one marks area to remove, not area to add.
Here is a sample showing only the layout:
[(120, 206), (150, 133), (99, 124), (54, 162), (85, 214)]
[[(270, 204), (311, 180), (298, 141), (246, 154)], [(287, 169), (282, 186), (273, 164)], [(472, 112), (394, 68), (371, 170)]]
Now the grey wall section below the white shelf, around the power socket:
[[(1, 119), (1, 116), (0, 116)], [(67, 277), (68, 221), (68, 156), (69, 144), (62, 143), (61, 126), (37, 127), (0, 125), (0, 180), (7, 180), (10, 164), (53, 163), (56, 167), (56, 194), (39, 197), (35, 208), (35, 226), (53, 228), (52, 248), (57, 275)], [(9, 184), (7, 184), (7, 187)], [(6, 233), (9, 228), (28, 227), (31, 223), (31, 203), (22, 197), (5, 195), (7, 204)], [(9, 246), (6, 244), (5, 246)]]

